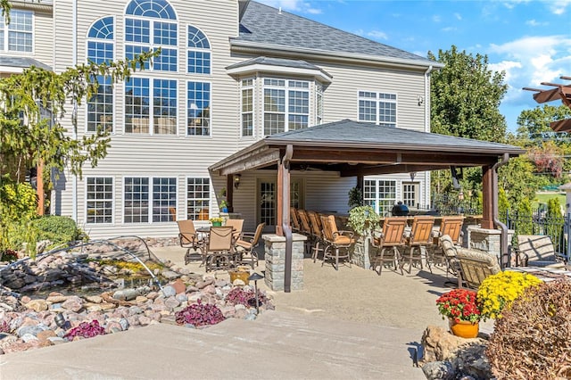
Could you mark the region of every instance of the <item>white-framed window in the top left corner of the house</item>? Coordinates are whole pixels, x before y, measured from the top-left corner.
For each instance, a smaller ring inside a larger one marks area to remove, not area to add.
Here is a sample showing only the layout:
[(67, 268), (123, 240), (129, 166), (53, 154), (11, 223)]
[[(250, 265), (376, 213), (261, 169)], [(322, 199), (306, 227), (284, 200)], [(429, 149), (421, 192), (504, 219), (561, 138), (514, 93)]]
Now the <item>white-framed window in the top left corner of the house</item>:
[(29, 11), (10, 11), (10, 24), (6, 28), (0, 20), (0, 50), (31, 53), (33, 46), (33, 14)]

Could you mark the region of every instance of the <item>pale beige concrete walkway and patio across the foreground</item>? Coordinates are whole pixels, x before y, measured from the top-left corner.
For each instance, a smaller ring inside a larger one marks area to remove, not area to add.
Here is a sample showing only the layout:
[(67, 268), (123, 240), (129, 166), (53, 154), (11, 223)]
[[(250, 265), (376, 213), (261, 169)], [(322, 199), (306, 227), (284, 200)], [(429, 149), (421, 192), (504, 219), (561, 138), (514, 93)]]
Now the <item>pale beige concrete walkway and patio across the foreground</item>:
[[(153, 248), (181, 267), (180, 247)], [(264, 262), (257, 268), (263, 274)], [(4, 379), (423, 379), (414, 350), (428, 325), (445, 326), (435, 299), (443, 270), (382, 276), (304, 260), (304, 289), (274, 293), (276, 311), (205, 329), (155, 325), (0, 356)], [(197, 263), (186, 266), (203, 272)], [(226, 272), (211, 273), (228, 277)], [(481, 331), (491, 332), (490, 322)]]

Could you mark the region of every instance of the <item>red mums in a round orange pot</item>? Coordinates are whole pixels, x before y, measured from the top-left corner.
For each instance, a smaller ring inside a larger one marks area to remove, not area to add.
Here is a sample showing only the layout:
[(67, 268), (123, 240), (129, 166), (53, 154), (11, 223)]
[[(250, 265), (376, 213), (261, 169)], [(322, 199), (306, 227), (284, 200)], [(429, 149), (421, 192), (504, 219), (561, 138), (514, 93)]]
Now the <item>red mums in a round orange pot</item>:
[(477, 293), (468, 289), (453, 289), (437, 300), (438, 311), (448, 318), (453, 335), (476, 338), (481, 318)]

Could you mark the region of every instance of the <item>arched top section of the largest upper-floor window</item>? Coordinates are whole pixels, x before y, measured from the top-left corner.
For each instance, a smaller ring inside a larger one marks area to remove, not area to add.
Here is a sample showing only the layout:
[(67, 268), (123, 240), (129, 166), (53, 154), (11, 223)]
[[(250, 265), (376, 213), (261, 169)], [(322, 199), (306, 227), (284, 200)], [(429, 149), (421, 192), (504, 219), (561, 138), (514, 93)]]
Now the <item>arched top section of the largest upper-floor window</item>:
[[(125, 18), (125, 57), (161, 47), (153, 59), (153, 70), (178, 70), (178, 23), (174, 9), (166, 0), (132, 0)], [(156, 20), (160, 19), (160, 20)], [(145, 63), (149, 69), (149, 63)]]

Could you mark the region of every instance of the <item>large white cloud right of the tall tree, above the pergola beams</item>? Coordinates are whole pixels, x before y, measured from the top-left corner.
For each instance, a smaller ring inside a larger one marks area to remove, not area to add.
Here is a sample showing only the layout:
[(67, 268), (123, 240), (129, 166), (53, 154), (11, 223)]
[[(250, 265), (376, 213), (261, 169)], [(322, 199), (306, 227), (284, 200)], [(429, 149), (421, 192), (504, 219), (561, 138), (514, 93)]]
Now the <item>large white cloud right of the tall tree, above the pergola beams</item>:
[[(505, 70), (509, 91), (507, 103), (528, 105), (530, 95), (522, 87), (542, 87), (541, 82), (561, 82), (559, 76), (569, 75), (571, 37), (522, 37), (502, 45), (490, 45), (489, 55), (499, 62), (490, 63), (491, 70)], [(492, 60), (490, 60), (492, 62)]]

